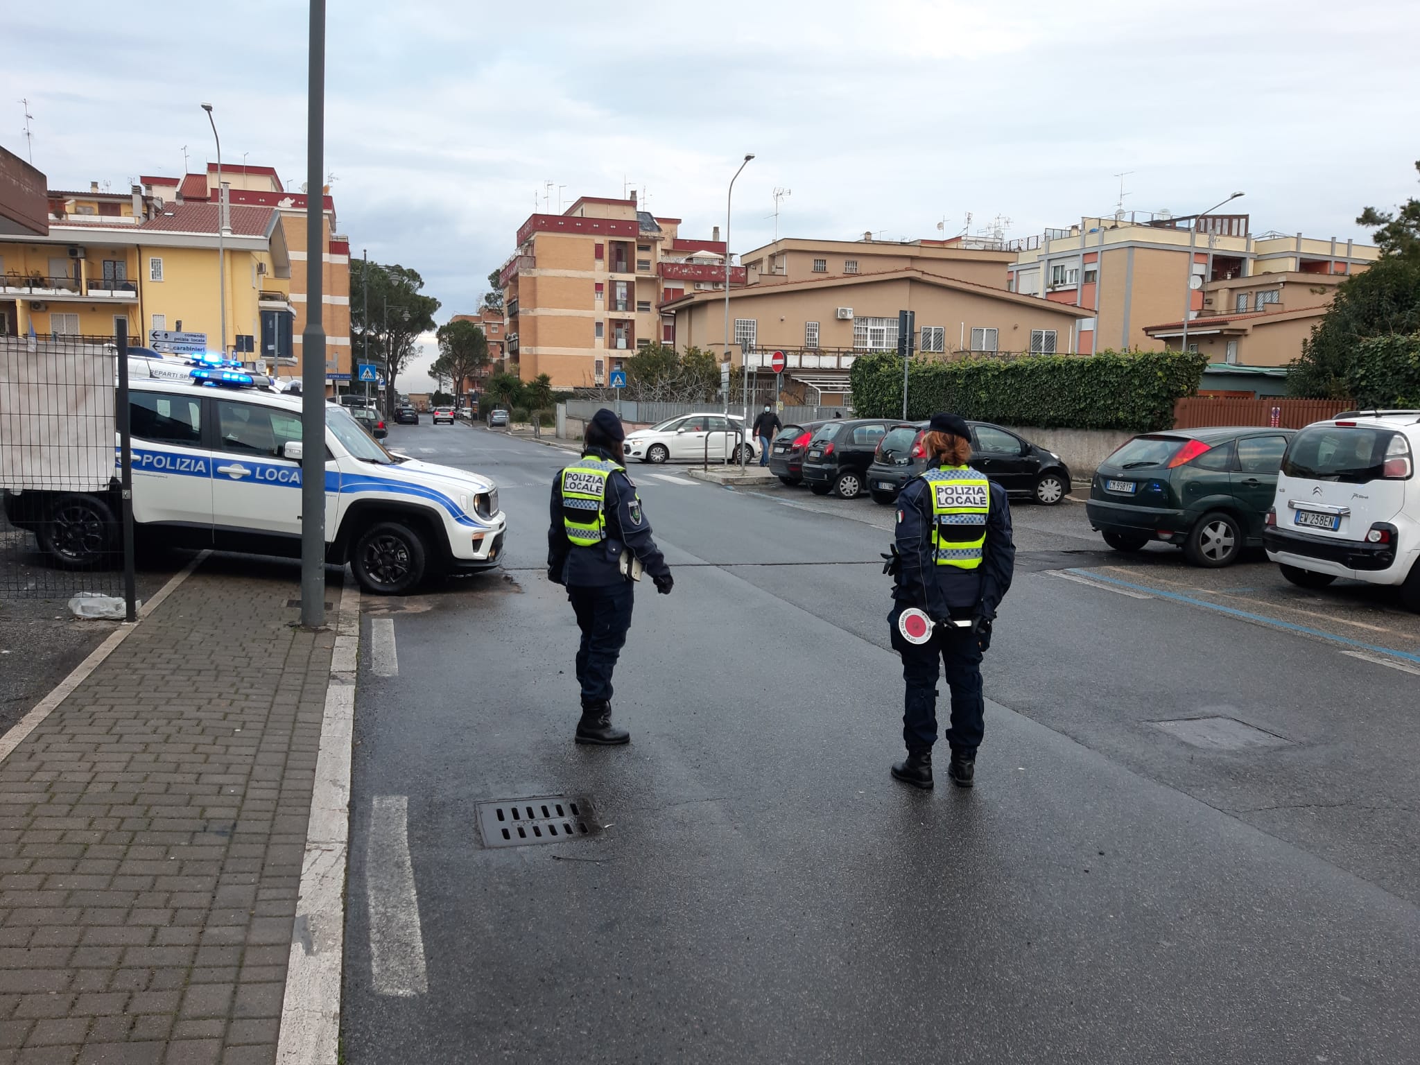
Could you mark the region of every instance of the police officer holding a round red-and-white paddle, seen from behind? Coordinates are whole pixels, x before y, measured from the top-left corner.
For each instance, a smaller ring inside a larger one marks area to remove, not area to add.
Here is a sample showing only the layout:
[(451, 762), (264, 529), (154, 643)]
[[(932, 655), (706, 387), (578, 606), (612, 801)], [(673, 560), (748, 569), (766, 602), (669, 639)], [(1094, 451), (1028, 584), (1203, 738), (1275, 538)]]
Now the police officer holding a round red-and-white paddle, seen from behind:
[[(933, 415), (923, 443), (932, 462), (897, 496), (888, 565), (897, 578), (888, 622), (907, 686), (902, 716), (907, 758), (892, 767), (892, 775), (919, 788), (932, 787), (937, 677), (946, 666), (951, 689), (947, 777), (970, 788), (984, 731), (981, 653), (991, 645), (991, 621), (1015, 568), (1011, 508), (1000, 484), (967, 466), (971, 430), (963, 419)], [(912, 643), (899, 630), (897, 619), (909, 606), (924, 611), (934, 623), (926, 643)]]

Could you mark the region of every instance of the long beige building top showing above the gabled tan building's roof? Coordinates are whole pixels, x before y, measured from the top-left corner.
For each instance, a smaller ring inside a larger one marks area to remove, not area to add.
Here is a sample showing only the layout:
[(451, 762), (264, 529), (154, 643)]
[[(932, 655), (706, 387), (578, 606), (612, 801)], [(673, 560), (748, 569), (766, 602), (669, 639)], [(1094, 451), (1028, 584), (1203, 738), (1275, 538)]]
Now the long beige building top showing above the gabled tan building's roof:
[(784, 237), (740, 256), (751, 285), (794, 284), (829, 277), (922, 270), (961, 281), (1007, 287), (1015, 254), (971, 237), (950, 240), (805, 240)]

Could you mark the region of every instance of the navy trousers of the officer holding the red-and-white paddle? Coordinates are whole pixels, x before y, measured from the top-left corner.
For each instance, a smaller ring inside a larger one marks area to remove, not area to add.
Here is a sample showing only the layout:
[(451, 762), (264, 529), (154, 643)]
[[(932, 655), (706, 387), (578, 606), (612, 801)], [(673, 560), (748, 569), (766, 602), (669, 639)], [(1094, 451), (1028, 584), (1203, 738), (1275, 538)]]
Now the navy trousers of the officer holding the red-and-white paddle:
[(909, 751), (930, 751), (937, 741), (937, 677), (947, 670), (951, 689), (951, 727), (947, 746), (976, 754), (985, 731), (985, 700), (981, 696), (981, 646), (971, 629), (939, 626), (926, 643), (909, 643), (897, 632), (896, 604), (888, 615), (892, 646), (902, 655), (902, 679), (907, 683), (902, 707), (902, 738)]

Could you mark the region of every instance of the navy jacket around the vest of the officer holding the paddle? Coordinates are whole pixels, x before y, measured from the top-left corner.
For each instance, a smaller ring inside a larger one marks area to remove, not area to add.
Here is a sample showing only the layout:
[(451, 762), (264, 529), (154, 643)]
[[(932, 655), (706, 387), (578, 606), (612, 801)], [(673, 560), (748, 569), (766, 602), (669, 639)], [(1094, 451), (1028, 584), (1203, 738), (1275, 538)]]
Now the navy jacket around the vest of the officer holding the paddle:
[(995, 481), (990, 486), (984, 557), (976, 569), (937, 565), (927, 481), (913, 477), (902, 487), (897, 494), (897, 582), (892, 589), (896, 602), (923, 609), (933, 621), (953, 613), (995, 616), (995, 608), (1011, 588), (1015, 544), (1011, 541), (1011, 506), (1005, 501), (1005, 490)]

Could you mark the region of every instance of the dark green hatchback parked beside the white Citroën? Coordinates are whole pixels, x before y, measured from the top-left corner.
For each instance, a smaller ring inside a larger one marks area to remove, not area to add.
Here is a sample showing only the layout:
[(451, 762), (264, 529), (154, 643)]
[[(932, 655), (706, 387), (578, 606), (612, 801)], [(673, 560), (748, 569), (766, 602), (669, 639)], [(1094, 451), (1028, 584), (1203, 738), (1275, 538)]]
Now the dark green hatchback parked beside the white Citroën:
[(1174, 429), (1136, 436), (1095, 471), (1085, 514), (1116, 551), (1152, 540), (1194, 565), (1231, 565), (1262, 544), (1291, 429)]

